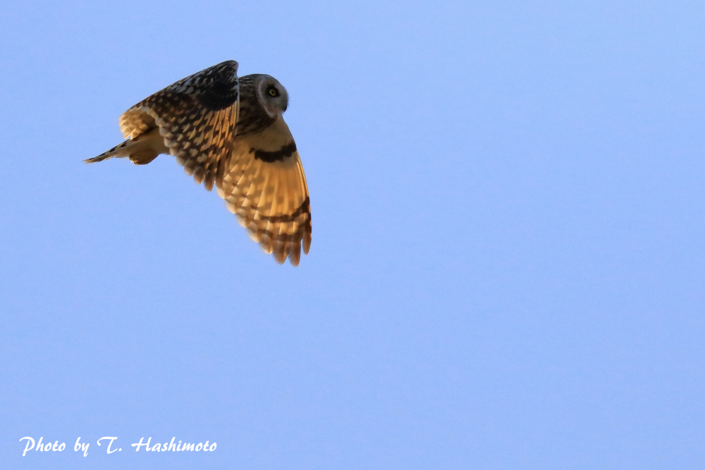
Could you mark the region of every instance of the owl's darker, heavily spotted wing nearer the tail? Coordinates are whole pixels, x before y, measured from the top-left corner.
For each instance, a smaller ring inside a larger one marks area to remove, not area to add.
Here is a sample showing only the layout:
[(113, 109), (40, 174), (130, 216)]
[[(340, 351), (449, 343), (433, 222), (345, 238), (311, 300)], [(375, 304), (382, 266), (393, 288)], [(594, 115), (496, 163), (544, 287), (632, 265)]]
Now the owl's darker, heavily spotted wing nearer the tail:
[(233, 149), (239, 100), (238, 63), (226, 61), (135, 104), (120, 117), (120, 129), (133, 139), (159, 128), (169, 153), (211, 190), (223, 177)]

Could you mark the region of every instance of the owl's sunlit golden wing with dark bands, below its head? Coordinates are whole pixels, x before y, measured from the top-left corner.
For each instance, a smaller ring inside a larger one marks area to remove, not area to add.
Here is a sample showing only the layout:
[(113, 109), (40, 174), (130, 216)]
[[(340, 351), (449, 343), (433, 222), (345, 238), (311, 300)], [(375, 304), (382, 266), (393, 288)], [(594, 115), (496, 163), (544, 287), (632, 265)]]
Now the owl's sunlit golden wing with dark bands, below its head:
[(281, 116), (262, 132), (235, 142), (217, 185), (252, 240), (278, 263), (297, 266), (311, 247), (311, 209), (296, 144)]

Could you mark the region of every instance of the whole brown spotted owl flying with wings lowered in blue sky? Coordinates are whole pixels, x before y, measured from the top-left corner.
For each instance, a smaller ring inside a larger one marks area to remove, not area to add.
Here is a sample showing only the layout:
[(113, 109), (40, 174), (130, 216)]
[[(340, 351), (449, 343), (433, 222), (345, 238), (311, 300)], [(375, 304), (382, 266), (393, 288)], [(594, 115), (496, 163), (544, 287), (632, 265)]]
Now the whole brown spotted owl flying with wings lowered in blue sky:
[(176, 156), (264, 252), (298, 266), (311, 246), (311, 209), (296, 144), (281, 117), (288, 94), (269, 75), (238, 78), (226, 61), (179, 80), (120, 117), (125, 142), (86, 163), (128, 157), (146, 165)]

